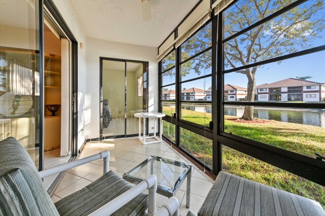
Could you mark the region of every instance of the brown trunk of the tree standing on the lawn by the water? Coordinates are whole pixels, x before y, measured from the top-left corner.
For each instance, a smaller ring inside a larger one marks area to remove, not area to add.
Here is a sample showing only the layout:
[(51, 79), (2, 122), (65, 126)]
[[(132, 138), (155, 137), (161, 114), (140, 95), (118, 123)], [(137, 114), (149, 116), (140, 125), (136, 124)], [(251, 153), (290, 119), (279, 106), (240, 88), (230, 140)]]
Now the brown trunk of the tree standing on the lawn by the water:
[[(250, 71), (247, 71), (247, 72), (248, 73), (246, 74), (246, 76), (248, 78), (248, 83), (247, 83), (246, 101), (254, 102), (254, 98), (255, 98), (255, 73), (251, 73)], [(243, 120), (253, 120), (253, 112), (254, 112), (254, 106), (245, 106), (244, 114), (241, 117), (241, 119), (243, 119)]]

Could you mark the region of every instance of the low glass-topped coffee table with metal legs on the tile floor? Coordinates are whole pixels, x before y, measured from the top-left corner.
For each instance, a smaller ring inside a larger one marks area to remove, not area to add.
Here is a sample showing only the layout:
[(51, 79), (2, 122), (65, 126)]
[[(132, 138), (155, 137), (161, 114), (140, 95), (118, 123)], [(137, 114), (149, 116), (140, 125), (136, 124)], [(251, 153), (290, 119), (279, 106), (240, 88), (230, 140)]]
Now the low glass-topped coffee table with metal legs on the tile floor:
[[(181, 184), (187, 177), (186, 207), (189, 208), (192, 166), (158, 156), (151, 156), (132, 170), (123, 174), (130, 183), (138, 184), (151, 174), (157, 177), (157, 193), (166, 197), (175, 196)], [(181, 202), (181, 200), (180, 200)]]

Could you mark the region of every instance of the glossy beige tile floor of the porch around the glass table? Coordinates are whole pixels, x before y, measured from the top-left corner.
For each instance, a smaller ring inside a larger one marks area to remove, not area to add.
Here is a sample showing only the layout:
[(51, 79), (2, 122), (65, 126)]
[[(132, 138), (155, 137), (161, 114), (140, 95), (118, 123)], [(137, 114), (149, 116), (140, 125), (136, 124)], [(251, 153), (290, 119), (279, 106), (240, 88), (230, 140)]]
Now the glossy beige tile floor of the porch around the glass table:
[[(181, 162), (190, 163), (184, 156), (172, 149), (167, 143), (155, 143), (142, 145), (138, 137), (107, 139), (103, 143), (88, 143), (78, 159), (84, 158), (104, 150), (110, 151), (110, 169), (119, 176), (141, 163), (143, 160), (156, 155)], [(193, 164), (192, 164), (193, 165)], [(59, 187), (55, 191), (52, 200), (54, 202), (74, 193), (103, 174), (103, 160), (93, 161), (88, 164), (73, 168), (64, 176)], [(186, 208), (186, 181), (183, 182), (176, 193), (180, 203), (180, 215), (186, 215), (188, 210), (197, 214), (205, 197), (212, 187), (214, 180), (206, 175), (195, 165), (192, 166), (190, 208)], [(157, 207), (161, 207), (167, 197), (157, 194)]]

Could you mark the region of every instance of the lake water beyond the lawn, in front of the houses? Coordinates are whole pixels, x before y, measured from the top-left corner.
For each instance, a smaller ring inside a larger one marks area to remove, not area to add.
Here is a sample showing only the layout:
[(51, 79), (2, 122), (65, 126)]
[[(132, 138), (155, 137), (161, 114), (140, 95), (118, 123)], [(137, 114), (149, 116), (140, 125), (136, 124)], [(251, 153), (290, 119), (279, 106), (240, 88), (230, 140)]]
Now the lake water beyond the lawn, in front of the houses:
[[(164, 106), (175, 107), (175, 105), (164, 104)], [(244, 106), (224, 107), (224, 115), (242, 116)], [(211, 105), (205, 104), (186, 104), (182, 105), (182, 109), (196, 111), (201, 113), (211, 113)], [(275, 120), (281, 122), (298, 123), (304, 125), (313, 125), (317, 127), (325, 127), (325, 111), (319, 109), (286, 109), (277, 107), (254, 107), (254, 118)]]

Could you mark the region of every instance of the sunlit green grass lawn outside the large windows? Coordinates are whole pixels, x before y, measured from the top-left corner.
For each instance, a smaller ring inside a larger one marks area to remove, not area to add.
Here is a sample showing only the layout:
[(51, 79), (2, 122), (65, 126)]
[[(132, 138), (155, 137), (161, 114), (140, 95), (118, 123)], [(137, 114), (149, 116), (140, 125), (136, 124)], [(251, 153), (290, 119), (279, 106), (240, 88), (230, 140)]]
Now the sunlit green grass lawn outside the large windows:
[[(171, 107), (163, 107), (163, 112), (167, 115), (175, 113)], [(182, 119), (207, 126), (211, 121), (211, 114), (182, 110)], [(325, 128), (273, 120), (245, 123), (235, 119), (234, 116), (225, 116), (225, 132), (307, 156), (314, 157), (315, 152), (325, 155)], [(166, 123), (164, 134), (167, 133)], [(169, 134), (173, 133), (174, 129), (173, 131), (169, 129)], [(211, 140), (182, 128), (180, 138), (180, 145), (184, 149), (212, 167)], [(325, 187), (241, 152), (223, 147), (222, 167), (229, 173), (314, 199), (325, 209)]]

